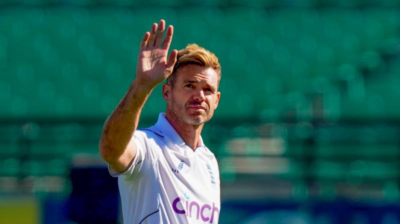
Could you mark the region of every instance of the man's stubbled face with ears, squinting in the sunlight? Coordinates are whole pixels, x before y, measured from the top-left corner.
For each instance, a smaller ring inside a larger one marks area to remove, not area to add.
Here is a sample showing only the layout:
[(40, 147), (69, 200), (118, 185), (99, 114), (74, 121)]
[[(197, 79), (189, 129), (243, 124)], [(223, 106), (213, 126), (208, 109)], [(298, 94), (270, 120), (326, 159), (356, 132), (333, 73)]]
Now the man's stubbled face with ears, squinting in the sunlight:
[(218, 105), (218, 75), (212, 68), (188, 64), (178, 69), (173, 86), (164, 84), (167, 112), (176, 120), (200, 125), (208, 121)]

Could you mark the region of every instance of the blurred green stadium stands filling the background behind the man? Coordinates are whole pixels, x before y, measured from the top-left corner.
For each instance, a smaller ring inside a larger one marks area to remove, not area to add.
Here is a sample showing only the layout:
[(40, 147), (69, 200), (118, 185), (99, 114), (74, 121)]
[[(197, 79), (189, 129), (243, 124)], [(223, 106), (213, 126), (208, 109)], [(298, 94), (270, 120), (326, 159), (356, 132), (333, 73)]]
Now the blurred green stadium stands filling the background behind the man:
[[(202, 132), (220, 223), (400, 223), (400, 1), (0, 0), (4, 223), (99, 223), (74, 211), (71, 173), (104, 172), (102, 125), (161, 18), (170, 49), (222, 66)], [(158, 86), (139, 127), (164, 110)]]

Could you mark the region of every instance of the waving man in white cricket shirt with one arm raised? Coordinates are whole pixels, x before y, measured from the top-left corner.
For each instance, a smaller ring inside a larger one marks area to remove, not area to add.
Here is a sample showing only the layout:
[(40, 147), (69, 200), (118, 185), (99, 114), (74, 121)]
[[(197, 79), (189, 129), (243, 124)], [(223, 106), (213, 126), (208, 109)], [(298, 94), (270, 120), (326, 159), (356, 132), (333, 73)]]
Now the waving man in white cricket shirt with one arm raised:
[[(124, 223), (217, 223), (219, 172), (200, 136), (218, 105), (220, 64), (197, 46), (167, 51), (173, 27), (154, 23), (140, 42), (136, 77), (104, 124), (99, 152), (118, 176)], [(166, 113), (136, 130), (151, 90), (162, 86)]]

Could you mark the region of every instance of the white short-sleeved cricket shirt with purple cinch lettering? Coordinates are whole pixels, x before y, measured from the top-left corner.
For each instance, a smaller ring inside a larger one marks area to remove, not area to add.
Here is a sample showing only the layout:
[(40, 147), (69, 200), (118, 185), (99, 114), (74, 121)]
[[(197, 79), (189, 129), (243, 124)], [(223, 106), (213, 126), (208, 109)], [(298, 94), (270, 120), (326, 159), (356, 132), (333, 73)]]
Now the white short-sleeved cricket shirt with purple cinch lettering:
[(125, 224), (217, 223), (219, 171), (214, 154), (200, 139), (193, 151), (160, 113), (155, 125), (133, 134), (137, 152), (118, 173)]

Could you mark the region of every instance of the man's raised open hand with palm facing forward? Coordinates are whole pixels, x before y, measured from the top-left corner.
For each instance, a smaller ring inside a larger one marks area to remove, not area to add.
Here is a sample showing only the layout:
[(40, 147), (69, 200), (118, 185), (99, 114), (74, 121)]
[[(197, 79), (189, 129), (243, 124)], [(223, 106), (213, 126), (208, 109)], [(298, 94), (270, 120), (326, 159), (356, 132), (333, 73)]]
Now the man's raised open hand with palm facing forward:
[(177, 50), (175, 49), (171, 51), (168, 59), (166, 58), (172, 40), (173, 26), (168, 26), (162, 41), (164, 29), (165, 21), (161, 19), (158, 25), (152, 24), (150, 32), (146, 32), (140, 41), (136, 79), (149, 87), (154, 87), (165, 80), (171, 74), (176, 62)]

